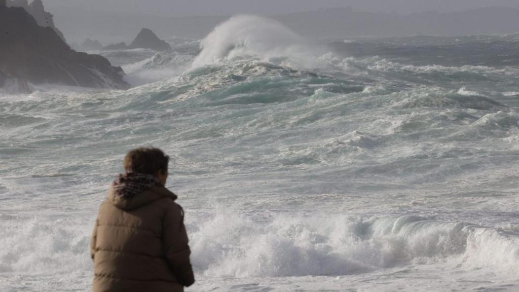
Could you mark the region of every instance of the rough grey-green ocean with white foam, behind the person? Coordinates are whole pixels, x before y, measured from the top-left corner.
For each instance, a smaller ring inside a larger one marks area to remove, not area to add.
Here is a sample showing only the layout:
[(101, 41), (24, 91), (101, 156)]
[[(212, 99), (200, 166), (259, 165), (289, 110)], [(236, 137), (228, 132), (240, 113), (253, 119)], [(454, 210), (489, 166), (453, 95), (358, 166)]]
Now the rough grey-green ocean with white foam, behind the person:
[(186, 211), (186, 291), (519, 291), (519, 36), (309, 41), (238, 16), (98, 52), (127, 91), (0, 92), (0, 290), (89, 291), (122, 158)]

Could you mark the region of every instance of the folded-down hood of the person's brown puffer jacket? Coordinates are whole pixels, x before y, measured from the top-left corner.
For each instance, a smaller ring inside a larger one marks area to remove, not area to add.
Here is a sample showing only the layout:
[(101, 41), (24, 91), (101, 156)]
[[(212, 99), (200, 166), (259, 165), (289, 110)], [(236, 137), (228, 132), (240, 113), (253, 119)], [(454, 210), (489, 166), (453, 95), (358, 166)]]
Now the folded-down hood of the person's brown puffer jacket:
[(110, 188), (110, 192), (108, 192), (108, 201), (121, 210), (137, 209), (163, 197), (169, 197), (173, 201), (177, 198), (174, 193), (165, 187), (160, 186), (149, 188), (148, 190), (131, 198), (125, 198), (123, 196), (117, 195), (113, 187)]

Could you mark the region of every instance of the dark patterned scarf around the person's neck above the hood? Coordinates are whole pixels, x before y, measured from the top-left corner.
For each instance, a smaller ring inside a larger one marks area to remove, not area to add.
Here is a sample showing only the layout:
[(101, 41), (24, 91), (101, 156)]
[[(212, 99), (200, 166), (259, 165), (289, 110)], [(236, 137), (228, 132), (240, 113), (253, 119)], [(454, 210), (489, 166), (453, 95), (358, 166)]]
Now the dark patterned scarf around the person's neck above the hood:
[(112, 187), (116, 195), (130, 199), (157, 185), (161, 186), (162, 184), (155, 176), (137, 172), (125, 172), (114, 180)]

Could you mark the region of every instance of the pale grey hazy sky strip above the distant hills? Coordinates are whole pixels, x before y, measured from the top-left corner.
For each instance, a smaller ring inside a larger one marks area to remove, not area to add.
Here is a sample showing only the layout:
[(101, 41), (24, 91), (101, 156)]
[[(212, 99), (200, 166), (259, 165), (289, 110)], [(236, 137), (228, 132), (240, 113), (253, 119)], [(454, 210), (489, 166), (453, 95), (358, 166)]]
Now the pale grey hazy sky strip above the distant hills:
[[(125, 14), (160, 16), (278, 15), (326, 7), (351, 6), (355, 10), (409, 14), (427, 10), (442, 12), (487, 6), (518, 7), (519, 0), (44, 0), (52, 6), (72, 6)], [(52, 9), (50, 9), (52, 10)]]

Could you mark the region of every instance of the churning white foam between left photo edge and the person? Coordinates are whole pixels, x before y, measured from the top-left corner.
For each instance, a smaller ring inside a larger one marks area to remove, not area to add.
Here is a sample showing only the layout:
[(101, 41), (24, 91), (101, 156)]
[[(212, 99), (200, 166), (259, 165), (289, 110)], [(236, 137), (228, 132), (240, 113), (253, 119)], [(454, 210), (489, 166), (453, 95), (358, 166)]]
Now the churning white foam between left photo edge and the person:
[(0, 273), (46, 274), (92, 267), (86, 257), (90, 232), (84, 222), (0, 218), (5, 232), (0, 239)]

